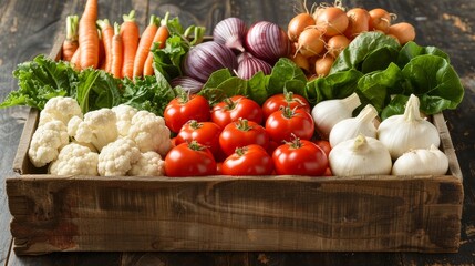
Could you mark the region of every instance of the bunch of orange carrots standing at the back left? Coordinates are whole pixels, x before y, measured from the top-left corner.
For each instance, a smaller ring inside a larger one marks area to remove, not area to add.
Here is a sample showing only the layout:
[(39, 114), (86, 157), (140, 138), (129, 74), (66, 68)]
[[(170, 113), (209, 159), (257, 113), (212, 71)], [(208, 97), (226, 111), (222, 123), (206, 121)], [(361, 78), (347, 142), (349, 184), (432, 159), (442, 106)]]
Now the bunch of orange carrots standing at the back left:
[(151, 50), (155, 43), (165, 45), (167, 21), (168, 13), (163, 20), (151, 16), (141, 35), (134, 10), (121, 23), (111, 24), (107, 19), (97, 20), (97, 0), (87, 0), (79, 23), (78, 17), (68, 17), (62, 59), (76, 70), (102, 69), (117, 79), (152, 75)]

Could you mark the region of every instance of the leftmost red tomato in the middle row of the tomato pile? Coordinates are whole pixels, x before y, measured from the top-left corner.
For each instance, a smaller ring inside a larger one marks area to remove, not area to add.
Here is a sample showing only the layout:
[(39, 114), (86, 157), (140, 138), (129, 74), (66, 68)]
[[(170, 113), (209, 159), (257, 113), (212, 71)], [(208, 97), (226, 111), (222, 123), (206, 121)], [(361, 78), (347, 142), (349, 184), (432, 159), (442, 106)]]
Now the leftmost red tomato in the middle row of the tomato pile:
[(221, 133), (221, 127), (219, 125), (206, 121), (198, 122), (196, 120), (190, 120), (186, 122), (182, 130), (179, 130), (176, 135), (176, 144), (189, 143), (196, 141), (199, 144), (206, 146), (211, 151), (213, 155), (218, 156), (219, 154), (219, 134)]

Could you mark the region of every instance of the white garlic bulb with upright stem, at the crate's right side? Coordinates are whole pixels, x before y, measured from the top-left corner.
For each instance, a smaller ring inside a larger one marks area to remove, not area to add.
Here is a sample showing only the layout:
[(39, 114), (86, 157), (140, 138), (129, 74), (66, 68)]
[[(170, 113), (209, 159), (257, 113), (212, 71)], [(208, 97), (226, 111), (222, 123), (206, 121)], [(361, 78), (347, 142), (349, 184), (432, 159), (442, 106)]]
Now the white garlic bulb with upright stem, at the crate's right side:
[(396, 160), (414, 149), (438, 147), (438, 131), (431, 122), (421, 117), (419, 98), (411, 94), (404, 114), (393, 115), (381, 122), (378, 139), (388, 147), (391, 157)]

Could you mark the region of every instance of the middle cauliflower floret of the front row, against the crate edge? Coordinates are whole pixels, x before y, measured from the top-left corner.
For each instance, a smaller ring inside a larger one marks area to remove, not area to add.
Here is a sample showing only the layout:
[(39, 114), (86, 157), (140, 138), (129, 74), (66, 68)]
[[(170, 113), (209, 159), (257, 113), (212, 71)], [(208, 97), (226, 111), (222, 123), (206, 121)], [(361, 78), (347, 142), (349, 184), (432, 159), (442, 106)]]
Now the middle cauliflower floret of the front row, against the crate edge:
[(117, 139), (104, 146), (99, 154), (97, 172), (102, 176), (126, 175), (141, 158), (141, 151), (134, 141)]

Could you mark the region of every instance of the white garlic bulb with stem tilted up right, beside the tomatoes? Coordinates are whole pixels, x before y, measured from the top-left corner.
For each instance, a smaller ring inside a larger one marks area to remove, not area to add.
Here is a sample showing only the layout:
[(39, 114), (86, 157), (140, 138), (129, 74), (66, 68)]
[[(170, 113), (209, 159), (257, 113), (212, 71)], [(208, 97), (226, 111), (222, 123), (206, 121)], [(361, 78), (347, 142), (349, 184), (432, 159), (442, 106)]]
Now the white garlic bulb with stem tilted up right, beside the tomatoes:
[(345, 99), (333, 99), (317, 103), (312, 109), (312, 117), (321, 137), (328, 140), (333, 125), (344, 119), (352, 117), (353, 110), (360, 104), (361, 101), (357, 93)]

